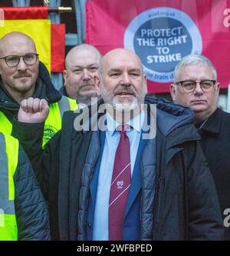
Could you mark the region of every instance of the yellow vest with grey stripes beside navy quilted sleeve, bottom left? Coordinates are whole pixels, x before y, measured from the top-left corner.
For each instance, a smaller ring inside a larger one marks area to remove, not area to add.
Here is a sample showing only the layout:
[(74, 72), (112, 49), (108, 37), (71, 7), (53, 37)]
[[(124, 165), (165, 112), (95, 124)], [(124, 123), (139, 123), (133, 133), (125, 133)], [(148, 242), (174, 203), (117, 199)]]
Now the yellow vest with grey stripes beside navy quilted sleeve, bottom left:
[(18, 140), (0, 133), (0, 240), (17, 241), (14, 175), (18, 165)]

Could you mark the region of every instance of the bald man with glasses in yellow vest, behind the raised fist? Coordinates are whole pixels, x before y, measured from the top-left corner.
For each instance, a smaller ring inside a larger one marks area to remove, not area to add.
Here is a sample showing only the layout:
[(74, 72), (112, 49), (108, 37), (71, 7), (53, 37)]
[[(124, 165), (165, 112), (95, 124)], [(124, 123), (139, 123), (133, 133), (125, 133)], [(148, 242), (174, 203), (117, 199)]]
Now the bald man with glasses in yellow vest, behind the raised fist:
[(64, 111), (77, 109), (74, 99), (61, 97), (51, 83), (47, 68), (39, 62), (35, 42), (21, 32), (0, 40), (0, 131), (11, 135), (11, 122), (23, 99), (45, 98), (50, 113), (45, 122), (43, 145), (61, 129)]

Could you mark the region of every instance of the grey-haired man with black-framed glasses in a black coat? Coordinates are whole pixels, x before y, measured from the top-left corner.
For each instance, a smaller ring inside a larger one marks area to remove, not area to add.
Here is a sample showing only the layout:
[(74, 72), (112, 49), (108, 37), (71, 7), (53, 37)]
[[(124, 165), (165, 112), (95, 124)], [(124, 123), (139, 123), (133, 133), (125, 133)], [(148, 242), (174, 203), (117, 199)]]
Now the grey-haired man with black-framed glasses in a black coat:
[(230, 115), (217, 107), (219, 88), (212, 62), (202, 55), (187, 55), (176, 65), (170, 91), (173, 101), (195, 114), (195, 126), (218, 192), (225, 239), (230, 240)]

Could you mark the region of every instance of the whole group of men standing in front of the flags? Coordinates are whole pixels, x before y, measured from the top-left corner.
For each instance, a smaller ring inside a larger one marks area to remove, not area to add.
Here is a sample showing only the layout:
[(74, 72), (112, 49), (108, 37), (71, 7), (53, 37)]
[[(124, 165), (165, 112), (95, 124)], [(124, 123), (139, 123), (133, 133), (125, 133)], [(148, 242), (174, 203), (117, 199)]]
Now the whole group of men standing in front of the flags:
[(230, 239), (230, 122), (208, 58), (179, 62), (170, 102), (147, 95), (135, 53), (78, 45), (57, 91), (11, 32), (0, 75), (0, 240)]

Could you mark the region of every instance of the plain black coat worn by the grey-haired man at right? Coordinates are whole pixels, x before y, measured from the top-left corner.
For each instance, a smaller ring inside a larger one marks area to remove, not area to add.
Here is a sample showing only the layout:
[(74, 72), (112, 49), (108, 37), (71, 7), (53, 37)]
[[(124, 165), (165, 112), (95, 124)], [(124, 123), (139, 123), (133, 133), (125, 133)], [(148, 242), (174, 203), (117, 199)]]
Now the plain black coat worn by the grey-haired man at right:
[(199, 129), (199, 133), (225, 220), (225, 239), (230, 240), (230, 114), (217, 108)]

